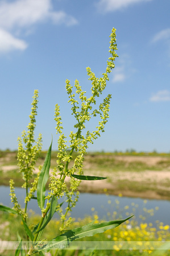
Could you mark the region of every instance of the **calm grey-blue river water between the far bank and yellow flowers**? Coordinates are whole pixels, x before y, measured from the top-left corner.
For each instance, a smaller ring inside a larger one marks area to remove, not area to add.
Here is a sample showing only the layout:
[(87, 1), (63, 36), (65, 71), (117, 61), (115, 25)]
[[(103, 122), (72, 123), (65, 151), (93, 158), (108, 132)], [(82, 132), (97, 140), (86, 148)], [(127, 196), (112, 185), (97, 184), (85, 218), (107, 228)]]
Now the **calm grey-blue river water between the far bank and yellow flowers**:
[[(13, 204), (11, 204), (9, 193), (9, 187), (0, 186), (0, 204), (12, 208)], [(25, 189), (16, 188), (15, 193), (19, 204), (24, 207)], [(63, 204), (64, 207), (67, 207), (65, 203)], [(30, 201), (28, 204), (29, 209), (34, 210), (37, 214), (41, 214), (36, 200)], [(84, 218), (85, 216), (97, 214), (100, 220), (109, 221), (126, 218), (131, 214), (135, 214), (135, 220), (139, 224), (141, 222), (151, 222), (155, 226), (157, 220), (163, 222), (164, 225), (170, 225), (169, 212), (170, 201), (168, 200), (144, 200), (95, 193), (80, 193), (76, 207), (72, 209), (71, 216), (74, 218)], [(58, 218), (57, 213), (55, 213), (55, 217)]]

